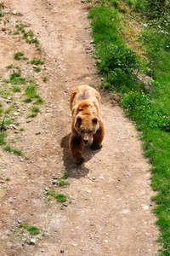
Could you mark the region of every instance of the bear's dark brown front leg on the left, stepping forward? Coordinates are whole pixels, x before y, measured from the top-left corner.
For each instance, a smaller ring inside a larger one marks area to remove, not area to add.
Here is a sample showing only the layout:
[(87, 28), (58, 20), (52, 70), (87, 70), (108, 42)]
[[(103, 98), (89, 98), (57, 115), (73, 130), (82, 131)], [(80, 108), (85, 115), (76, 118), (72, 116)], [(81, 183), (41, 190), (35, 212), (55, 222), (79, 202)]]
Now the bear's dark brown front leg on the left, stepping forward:
[(82, 156), (82, 151), (84, 148), (82, 137), (71, 135), (69, 145), (70, 145), (71, 155), (76, 161), (77, 166), (81, 165), (82, 162), (84, 161), (84, 158)]

